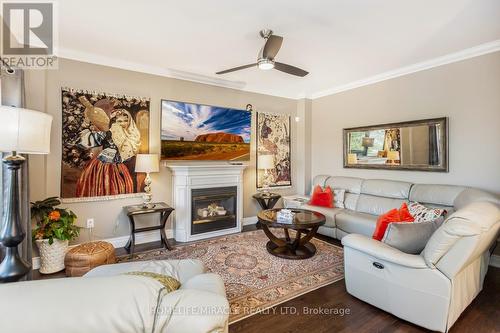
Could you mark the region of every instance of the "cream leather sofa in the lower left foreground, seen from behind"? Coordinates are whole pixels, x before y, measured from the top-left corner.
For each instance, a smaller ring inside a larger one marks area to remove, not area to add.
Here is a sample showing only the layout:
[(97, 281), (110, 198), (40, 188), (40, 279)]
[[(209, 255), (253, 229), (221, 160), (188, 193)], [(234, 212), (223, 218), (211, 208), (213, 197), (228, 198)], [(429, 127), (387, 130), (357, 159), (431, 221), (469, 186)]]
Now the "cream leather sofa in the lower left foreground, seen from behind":
[[(170, 275), (158, 281), (123, 275)], [(198, 260), (157, 260), (99, 266), (84, 277), (0, 285), (0, 332), (227, 332), (229, 304), (222, 279)]]

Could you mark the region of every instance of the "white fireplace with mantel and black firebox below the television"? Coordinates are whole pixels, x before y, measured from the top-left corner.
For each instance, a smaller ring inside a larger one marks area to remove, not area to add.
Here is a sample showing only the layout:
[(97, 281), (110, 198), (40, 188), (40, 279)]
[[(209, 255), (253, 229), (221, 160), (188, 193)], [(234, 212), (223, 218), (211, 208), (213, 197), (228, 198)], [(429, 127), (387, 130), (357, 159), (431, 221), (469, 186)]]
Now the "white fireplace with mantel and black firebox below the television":
[(174, 237), (188, 242), (241, 231), (246, 165), (168, 163)]

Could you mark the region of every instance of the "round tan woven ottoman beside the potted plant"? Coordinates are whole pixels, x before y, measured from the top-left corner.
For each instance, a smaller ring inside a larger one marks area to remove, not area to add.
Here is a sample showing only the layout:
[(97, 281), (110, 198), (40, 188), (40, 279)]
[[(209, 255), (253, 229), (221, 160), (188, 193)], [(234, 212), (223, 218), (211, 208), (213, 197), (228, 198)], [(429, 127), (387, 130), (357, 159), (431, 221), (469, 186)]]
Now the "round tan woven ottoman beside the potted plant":
[(66, 276), (82, 276), (94, 267), (115, 262), (115, 248), (103, 241), (77, 245), (64, 258)]

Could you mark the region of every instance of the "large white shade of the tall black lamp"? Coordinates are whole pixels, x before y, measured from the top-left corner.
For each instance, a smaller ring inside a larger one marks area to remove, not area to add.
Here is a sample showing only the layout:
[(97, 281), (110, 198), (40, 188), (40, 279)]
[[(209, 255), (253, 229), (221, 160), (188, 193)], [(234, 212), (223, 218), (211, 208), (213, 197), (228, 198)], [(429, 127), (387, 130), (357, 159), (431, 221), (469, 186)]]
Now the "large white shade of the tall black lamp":
[(52, 116), (43, 112), (0, 106), (0, 151), (50, 153)]

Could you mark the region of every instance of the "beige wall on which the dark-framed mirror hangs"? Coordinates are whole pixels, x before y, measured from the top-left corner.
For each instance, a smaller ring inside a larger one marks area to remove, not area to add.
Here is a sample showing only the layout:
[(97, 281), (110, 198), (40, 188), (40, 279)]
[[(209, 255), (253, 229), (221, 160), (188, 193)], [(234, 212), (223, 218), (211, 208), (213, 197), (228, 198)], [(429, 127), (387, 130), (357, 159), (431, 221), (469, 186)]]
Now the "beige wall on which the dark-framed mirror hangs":
[[(344, 169), (342, 129), (449, 117), (450, 172)], [(312, 175), (477, 186), (500, 193), (500, 52), (313, 100)]]

